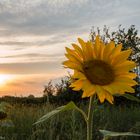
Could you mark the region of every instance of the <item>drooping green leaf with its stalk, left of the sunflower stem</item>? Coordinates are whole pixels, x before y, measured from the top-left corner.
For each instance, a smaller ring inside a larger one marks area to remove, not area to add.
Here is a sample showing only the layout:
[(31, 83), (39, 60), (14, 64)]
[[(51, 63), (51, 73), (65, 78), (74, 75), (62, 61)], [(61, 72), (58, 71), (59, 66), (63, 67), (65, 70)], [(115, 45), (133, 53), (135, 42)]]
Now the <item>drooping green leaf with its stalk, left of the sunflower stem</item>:
[(53, 111), (47, 113), (46, 115), (42, 116), (37, 122), (34, 123), (34, 125), (42, 123), (42, 122), (50, 119), (51, 117), (57, 115), (58, 113), (61, 113), (61, 112), (64, 112), (64, 111), (68, 111), (68, 110), (72, 110), (72, 109), (76, 109), (77, 111), (79, 111), (84, 116), (84, 118), (85, 118), (85, 113), (80, 108), (78, 108), (75, 105), (74, 102), (71, 101), (67, 105), (58, 107), (55, 110), (53, 110)]

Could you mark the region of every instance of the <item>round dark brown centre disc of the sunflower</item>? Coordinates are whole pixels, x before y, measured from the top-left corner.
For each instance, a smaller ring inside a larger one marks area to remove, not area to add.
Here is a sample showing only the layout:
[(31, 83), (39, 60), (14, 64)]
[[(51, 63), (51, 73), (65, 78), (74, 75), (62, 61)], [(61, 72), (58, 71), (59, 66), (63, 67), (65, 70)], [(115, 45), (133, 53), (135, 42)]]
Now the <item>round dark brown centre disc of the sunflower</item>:
[(114, 81), (112, 67), (102, 60), (91, 60), (83, 65), (84, 74), (92, 84), (108, 85)]

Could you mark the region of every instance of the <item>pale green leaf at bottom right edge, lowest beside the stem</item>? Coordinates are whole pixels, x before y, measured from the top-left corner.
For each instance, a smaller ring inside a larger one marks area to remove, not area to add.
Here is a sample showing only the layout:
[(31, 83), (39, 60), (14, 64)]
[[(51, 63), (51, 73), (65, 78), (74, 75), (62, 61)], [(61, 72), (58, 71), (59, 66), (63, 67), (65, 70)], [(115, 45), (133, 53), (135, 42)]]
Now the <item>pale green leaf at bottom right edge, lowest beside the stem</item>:
[(99, 130), (105, 137), (118, 137), (118, 136), (140, 136), (140, 134), (132, 132), (112, 132), (107, 130)]

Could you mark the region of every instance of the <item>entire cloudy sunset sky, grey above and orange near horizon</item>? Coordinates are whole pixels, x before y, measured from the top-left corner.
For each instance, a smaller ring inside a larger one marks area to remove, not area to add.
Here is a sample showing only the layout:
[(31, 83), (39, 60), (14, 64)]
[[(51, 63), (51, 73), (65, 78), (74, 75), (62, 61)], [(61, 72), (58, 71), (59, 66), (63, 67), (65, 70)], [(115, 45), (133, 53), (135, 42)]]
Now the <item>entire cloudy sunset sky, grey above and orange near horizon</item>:
[(91, 27), (140, 29), (140, 0), (0, 0), (0, 96), (42, 96), (67, 75), (65, 46)]

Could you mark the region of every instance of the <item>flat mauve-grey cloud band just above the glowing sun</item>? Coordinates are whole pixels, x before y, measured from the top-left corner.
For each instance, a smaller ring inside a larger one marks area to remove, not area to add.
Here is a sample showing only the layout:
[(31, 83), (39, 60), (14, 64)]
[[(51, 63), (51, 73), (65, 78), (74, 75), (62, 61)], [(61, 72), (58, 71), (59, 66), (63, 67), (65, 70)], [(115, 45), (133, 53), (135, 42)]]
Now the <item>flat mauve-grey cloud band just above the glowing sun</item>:
[(6, 63), (0, 64), (0, 72), (7, 74), (40, 74), (62, 73), (62, 64), (58, 61)]

